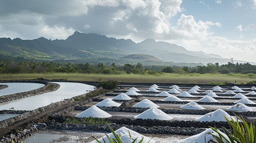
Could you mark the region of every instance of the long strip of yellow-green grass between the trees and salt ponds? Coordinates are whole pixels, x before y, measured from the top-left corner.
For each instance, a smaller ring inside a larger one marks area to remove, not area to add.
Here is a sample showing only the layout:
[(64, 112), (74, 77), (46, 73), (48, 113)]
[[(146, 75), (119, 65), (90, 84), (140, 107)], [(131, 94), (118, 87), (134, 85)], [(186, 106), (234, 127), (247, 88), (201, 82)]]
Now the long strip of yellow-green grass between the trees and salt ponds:
[(52, 74), (1, 74), (0, 80), (7, 79), (66, 79), (72, 81), (108, 81), (117, 80), (118, 82), (136, 83), (195, 83), (195, 84), (221, 84), (223, 82), (237, 84), (256, 80), (256, 74), (168, 74), (162, 75), (103, 75), (103, 74), (80, 74), (80, 73), (52, 73)]

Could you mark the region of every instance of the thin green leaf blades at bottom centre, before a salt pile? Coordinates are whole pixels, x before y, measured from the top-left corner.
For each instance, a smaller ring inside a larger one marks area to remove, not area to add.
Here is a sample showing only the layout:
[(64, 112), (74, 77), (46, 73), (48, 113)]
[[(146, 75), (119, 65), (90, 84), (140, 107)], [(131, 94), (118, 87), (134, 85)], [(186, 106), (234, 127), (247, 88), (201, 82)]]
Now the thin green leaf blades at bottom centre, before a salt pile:
[[(108, 138), (108, 141), (110, 142), (110, 143), (124, 143), (123, 141), (122, 141), (122, 139), (121, 139), (121, 134), (116, 134), (115, 133), (115, 131), (108, 125), (108, 128), (110, 129), (110, 131), (112, 132), (112, 134), (114, 135), (114, 137), (115, 138), (112, 138), (112, 139), (110, 139), (110, 137), (108, 136), (108, 134), (106, 134), (106, 136), (107, 136), (107, 138)], [(137, 138), (135, 138), (135, 139), (132, 139), (132, 137), (131, 137), (131, 134), (130, 134), (130, 132), (128, 131), (128, 133), (129, 133), (129, 137), (130, 137), (130, 143), (135, 143), (136, 141), (137, 141), (137, 139), (138, 139), (138, 137)], [(98, 139), (96, 139), (94, 136), (92, 136), (98, 143), (101, 143)], [(103, 139), (103, 138), (102, 138)], [(143, 142), (143, 140), (144, 140), (144, 137), (142, 137), (141, 138), (141, 140), (139, 140), (137, 143), (142, 143)], [(151, 140), (151, 139), (150, 139)], [(150, 142), (150, 140), (148, 141), (148, 143)], [(104, 141), (104, 143), (106, 143), (106, 141), (103, 139), (103, 141)]]

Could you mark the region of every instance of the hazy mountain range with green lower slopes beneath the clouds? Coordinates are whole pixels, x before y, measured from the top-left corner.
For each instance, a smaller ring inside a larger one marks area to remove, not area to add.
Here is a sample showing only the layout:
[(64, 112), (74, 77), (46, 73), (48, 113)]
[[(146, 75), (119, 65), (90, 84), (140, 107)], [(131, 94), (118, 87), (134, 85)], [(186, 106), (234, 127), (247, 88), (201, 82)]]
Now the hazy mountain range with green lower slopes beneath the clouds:
[[(0, 59), (38, 60), (56, 62), (141, 62), (159, 64), (168, 62), (226, 64), (230, 59), (202, 51), (189, 51), (168, 42), (146, 39), (135, 43), (94, 33), (75, 31), (66, 40), (40, 37), (34, 40), (0, 38)], [(245, 62), (236, 61), (234, 62)], [(255, 63), (253, 63), (255, 64)]]

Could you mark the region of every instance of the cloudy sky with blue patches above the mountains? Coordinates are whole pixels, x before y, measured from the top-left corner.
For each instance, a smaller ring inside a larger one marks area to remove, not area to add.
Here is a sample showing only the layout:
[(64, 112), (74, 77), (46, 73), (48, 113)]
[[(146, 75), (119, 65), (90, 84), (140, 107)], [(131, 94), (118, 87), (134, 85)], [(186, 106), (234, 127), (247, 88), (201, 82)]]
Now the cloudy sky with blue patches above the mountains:
[(0, 0), (0, 37), (54, 40), (74, 31), (256, 62), (256, 0)]

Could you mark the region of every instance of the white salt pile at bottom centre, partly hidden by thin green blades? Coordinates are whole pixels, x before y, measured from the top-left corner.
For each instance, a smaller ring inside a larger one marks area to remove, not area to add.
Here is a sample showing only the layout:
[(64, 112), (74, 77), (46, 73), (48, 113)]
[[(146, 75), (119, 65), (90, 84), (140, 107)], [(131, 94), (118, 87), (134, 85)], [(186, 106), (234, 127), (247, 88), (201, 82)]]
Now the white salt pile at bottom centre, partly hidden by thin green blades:
[[(118, 129), (118, 130), (116, 130), (115, 131), (115, 133), (117, 134), (117, 135), (121, 135), (121, 140), (123, 141), (123, 143), (130, 143), (130, 136), (131, 136), (131, 139), (136, 139), (136, 138), (138, 138), (136, 141), (135, 141), (135, 143), (138, 143), (143, 137), (143, 143), (155, 143), (155, 141), (153, 141), (153, 139), (152, 140), (150, 140), (150, 138), (149, 137), (147, 137), (147, 136), (143, 136), (143, 135), (141, 135), (141, 134), (139, 134), (139, 133), (137, 133), (137, 132), (135, 132), (135, 131), (133, 131), (133, 130), (130, 130), (130, 129), (128, 129), (128, 128), (125, 128), (125, 127), (122, 127), (122, 128), (120, 128), (120, 129)], [(129, 133), (130, 133), (130, 135), (129, 135)], [(114, 134), (113, 133), (109, 133), (108, 134), (108, 136), (109, 136), (109, 138), (111, 139), (111, 141), (112, 141), (112, 139), (115, 139), (115, 136), (114, 136)], [(110, 143), (109, 141), (108, 141), (108, 137), (107, 136), (103, 136), (103, 137), (101, 137), (100, 139), (98, 139), (101, 143), (104, 143), (105, 141), (106, 141), (106, 143)], [(91, 143), (98, 143), (97, 141), (92, 141)]]

